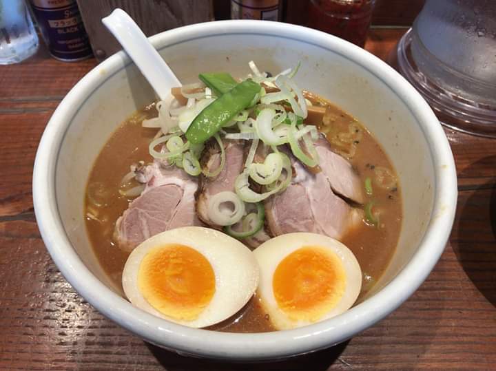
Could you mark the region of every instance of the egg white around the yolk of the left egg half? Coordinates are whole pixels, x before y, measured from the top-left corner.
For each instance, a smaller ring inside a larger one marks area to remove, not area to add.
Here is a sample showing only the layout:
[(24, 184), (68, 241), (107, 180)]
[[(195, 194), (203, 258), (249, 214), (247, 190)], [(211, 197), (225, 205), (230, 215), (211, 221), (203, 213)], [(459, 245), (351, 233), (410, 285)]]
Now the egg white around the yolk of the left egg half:
[[(194, 248), (205, 256), (214, 270), (214, 296), (192, 321), (163, 315), (148, 303), (138, 288), (138, 270), (143, 257), (150, 249), (165, 244), (182, 244)], [(187, 226), (159, 233), (137, 246), (127, 258), (122, 283), (127, 299), (134, 306), (177, 324), (201, 328), (223, 321), (245, 306), (255, 293), (258, 279), (258, 264), (247, 246), (214, 229)]]

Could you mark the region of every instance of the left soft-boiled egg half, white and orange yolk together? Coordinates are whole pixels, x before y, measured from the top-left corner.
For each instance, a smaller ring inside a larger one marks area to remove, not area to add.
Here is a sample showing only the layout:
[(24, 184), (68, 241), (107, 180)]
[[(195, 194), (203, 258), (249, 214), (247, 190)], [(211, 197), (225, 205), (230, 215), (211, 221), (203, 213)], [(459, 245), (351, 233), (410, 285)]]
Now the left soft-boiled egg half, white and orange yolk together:
[(214, 229), (187, 226), (150, 237), (123, 271), (134, 306), (185, 326), (216, 324), (254, 295), (259, 269), (244, 244)]

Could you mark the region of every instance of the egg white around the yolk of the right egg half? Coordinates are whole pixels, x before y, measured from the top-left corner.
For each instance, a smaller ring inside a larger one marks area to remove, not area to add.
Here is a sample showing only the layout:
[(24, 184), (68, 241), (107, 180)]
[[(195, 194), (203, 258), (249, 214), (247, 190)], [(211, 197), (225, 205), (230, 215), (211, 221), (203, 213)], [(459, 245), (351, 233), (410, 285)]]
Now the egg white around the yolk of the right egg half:
[(346, 274), (346, 287), (338, 303), (318, 321), (324, 321), (345, 312), (355, 303), (362, 287), (362, 270), (355, 255), (341, 242), (331, 237), (316, 233), (288, 233), (274, 237), (261, 244), (254, 250), (254, 255), (260, 266), (260, 282), (257, 296), (262, 308), (269, 315), (271, 324), (277, 330), (287, 330), (306, 326), (314, 322), (291, 319), (287, 313), (278, 307), (278, 302), (273, 293), (273, 274), (276, 268), (288, 255), (304, 246), (316, 246), (329, 249), (340, 259)]

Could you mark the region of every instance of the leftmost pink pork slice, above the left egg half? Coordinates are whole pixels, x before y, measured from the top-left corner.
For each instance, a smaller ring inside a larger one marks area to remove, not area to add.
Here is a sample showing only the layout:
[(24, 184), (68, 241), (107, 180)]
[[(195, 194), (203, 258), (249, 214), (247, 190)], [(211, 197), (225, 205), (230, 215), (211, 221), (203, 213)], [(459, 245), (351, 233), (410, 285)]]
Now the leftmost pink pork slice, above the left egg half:
[(143, 169), (139, 180), (146, 182), (145, 190), (116, 222), (114, 240), (121, 249), (132, 251), (169, 229), (202, 225), (195, 212), (196, 178), (156, 160)]

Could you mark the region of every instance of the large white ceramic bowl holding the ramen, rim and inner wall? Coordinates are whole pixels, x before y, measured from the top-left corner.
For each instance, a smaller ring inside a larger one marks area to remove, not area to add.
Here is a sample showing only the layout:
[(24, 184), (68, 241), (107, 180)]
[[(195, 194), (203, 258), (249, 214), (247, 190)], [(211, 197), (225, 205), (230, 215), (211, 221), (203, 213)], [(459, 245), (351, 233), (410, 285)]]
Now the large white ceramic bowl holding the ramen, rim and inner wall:
[(64, 277), (96, 309), (136, 335), (186, 354), (239, 361), (311, 352), (349, 339), (400, 306), (422, 284), (451, 231), (455, 165), (433, 112), (391, 67), (322, 32), (282, 23), (220, 21), (151, 38), (183, 82), (199, 72), (244, 76), (248, 61), (278, 72), (302, 61), (300, 87), (329, 98), (368, 127), (389, 154), (403, 192), (404, 221), (389, 267), (369, 297), (311, 326), (234, 334), (186, 328), (134, 308), (105, 276), (83, 220), (83, 195), (105, 141), (132, 112), (154, 100), (123, 52), (85, 76), (45, 129), (34, 165), (34, 209), (43, 240)]

